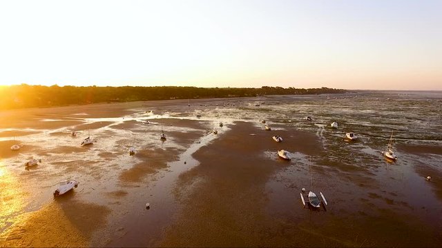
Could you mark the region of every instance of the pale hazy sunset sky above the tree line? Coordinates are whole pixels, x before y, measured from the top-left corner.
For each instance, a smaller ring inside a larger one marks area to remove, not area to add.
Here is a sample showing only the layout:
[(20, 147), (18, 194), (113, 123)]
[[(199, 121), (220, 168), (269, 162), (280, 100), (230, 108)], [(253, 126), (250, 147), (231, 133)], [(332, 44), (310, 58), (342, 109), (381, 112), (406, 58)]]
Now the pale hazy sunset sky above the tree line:
[(0, 1), (0, 85), (442, 90), (442, 1)]

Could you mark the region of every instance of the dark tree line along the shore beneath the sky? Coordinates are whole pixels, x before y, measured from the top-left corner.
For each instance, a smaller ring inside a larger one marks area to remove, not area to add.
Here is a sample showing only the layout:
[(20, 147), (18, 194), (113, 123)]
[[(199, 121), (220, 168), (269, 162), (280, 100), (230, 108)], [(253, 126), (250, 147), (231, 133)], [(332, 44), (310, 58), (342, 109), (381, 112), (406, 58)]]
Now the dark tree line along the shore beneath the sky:
[(0, 86), (0, 109), (23, 107), (51, 107), (87, 103), (155, 101), (169, 99), (204, 99), (218, 97), (263, 96), (274, 94), (334, 94), (345, 90), (327, 87), (296, 89), (294, 87), (236, 88), (236, 87), (76, 87), (58, 85), (11, 85)]

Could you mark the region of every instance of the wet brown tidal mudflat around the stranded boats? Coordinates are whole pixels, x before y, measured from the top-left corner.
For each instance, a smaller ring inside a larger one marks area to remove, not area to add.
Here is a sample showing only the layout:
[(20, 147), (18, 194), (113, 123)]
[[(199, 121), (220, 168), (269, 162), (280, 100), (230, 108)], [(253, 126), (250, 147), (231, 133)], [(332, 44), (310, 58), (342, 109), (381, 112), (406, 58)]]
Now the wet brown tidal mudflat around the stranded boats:
[[(112, 103), (0, 116), (1, 247), (442, 242), (441, 92)], [(358, 140), (345, 141), (347, 132)], [(381, 154), (391, 132), (395, 163)], [(95, 143), (81, 147), (87, 136)], [(279, 149), (291, 161), (279, 159)], [(41, 163), (26, 169), (30, 158)], [(327, 211), (302, 206), (310, 165)], [(54, 198), (65, 179), (78, 187)]]

